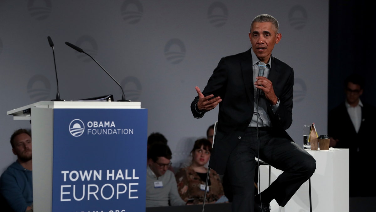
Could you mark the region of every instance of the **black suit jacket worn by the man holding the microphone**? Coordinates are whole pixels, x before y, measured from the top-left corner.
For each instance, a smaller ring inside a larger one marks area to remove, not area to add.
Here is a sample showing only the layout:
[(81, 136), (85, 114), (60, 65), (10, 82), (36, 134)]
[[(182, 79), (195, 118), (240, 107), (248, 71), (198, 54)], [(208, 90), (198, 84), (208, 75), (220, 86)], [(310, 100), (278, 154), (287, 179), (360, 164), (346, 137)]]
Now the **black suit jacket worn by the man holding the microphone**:
[[(253, 116), (254, 91), (252, 49), (246, 52), (221, 58), (217, 68), (202, 91), (204, 96), (213, 94), (220, 96), (218, 128), (214, 147), (211, 152), (209, 167), (224, 174), (230, 152), (237, 146), (244, 135)], [(273, 89), (280, 104), (274, 114), (268, 105), (267, 112), (276, 135), (291, 137), (285, 131), (292, 123), (294, 71), (281, 60), (273, 57), (268, 79), (273, 83)], [(201, 118), (204, 113), (197, 112), (198, 96), (191, 104), (195, 118)]]

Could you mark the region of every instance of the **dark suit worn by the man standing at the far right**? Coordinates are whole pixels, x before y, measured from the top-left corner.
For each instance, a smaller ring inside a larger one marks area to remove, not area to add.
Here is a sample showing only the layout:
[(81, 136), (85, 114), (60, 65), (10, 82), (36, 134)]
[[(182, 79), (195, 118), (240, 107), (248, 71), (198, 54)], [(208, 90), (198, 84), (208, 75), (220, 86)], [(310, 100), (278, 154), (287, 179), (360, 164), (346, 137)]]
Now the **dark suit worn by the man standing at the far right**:
[(363, 103), (358, 133), (344, 102), (328, 115), (328, 134), (339, 140), (335, 148), (349, 149), (350, 197), (376, 196), (375, 120), (376, 108), (366, 103)]

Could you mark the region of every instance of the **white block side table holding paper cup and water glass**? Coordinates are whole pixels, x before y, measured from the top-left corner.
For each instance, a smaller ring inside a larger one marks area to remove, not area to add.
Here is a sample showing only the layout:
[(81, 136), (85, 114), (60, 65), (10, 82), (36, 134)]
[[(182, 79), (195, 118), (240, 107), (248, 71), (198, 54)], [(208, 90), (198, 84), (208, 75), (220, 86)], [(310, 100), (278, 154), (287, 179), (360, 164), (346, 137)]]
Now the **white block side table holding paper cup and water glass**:
[[(311, 177), (312, 211), (349, 212), (349, 149), (333, 151), (308, 151), (316, 160), (316, 170)], [(271, 182), (282, 171), (271, 168)], [(261, 191), (268, 187), (268, 166), (260, 167)], [(309, 211), (308, 181), (302, 184), (285, 207), (275, 200), (270, 203), (271, 212)]]

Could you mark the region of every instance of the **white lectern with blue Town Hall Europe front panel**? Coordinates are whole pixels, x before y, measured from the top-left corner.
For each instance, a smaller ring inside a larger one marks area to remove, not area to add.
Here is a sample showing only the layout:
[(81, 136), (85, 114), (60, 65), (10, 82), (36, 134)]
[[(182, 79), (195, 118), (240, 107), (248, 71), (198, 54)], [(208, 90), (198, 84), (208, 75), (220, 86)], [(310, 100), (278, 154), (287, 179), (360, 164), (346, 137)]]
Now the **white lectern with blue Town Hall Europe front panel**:
[(39, 101), (7, 115), (31, 121), (35, 211), (145, 211), (140, 102)]

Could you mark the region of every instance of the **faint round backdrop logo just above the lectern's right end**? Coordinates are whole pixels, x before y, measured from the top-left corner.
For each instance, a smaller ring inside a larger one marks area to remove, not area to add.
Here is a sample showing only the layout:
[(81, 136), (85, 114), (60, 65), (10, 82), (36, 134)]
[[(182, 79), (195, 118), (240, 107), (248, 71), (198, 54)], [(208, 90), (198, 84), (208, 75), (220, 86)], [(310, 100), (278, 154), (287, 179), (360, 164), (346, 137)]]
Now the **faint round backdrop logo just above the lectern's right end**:
[[(124, 95), (127, 100), (137, 101), (139, 99), (141, 96), (142, 87), (138, 78), (128, 76), (125, 77), (120, 84), (124, 90)], [(122, 95), (123, 93), (121, 92), (121, 89), (119, 90), (120, 94)]]

